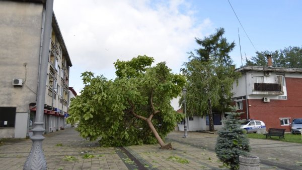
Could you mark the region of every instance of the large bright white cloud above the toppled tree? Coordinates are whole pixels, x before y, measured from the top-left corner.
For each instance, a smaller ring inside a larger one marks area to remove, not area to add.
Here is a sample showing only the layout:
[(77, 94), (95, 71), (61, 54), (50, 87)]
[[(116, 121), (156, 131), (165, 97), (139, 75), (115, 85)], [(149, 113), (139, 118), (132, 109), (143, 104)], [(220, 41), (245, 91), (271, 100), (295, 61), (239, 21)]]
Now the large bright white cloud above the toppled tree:
[(113, 69), (117, 59), (147, 55), (179, 68), (194, 37), (202, 37), (211, 22), (196, 24), (184, 1), (153, 3), (55, 1), (54, 12), (73, 65), (92, 71)]

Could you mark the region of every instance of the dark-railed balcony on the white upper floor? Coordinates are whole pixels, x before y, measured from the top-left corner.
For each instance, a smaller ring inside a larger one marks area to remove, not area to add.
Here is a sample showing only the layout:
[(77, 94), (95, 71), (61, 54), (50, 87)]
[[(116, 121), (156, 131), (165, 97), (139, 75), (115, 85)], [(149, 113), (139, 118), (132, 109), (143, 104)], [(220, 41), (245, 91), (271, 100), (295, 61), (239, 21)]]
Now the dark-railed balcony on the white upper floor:
[(254, 83), (253, 94), (269, 94), (269, 95), (283, 95), (281, 84), (277, 83)]

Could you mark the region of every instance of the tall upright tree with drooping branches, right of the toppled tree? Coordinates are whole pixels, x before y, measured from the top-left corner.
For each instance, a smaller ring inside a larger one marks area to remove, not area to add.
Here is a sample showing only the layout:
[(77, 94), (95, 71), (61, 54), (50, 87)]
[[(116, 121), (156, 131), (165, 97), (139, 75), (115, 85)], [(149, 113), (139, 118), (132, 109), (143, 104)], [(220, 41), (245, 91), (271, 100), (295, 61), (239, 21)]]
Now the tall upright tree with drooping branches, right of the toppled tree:
[(219, 28), (203, 40), (196, 38), (201, 48), (195, 50), (196, 54), (189, 53), (189, 61), (181, 69), (188, 81), (187, 112), (191, 115), (208, 115), (210, 131), (215, 130), (213, 107), (226, 107), (225, 101), (232, 97), (233, 83), (240, 76), (240, 73), (234, 72), (235, 67), (229, 56), (235, 43), (228, 43), (223, 34), (224, 29)]

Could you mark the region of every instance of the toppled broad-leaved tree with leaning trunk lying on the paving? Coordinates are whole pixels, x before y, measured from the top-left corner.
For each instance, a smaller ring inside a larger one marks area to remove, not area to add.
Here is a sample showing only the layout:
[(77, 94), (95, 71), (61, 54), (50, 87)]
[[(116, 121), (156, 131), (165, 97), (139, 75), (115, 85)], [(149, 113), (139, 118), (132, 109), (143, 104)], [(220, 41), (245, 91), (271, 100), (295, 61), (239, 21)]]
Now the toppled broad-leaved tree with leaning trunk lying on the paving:
[(150, 67), (153, 61), (147, 56), (118, 60), (114, 80), (83, 73), (85, 87), (71, 101), (67, 121), (79, 122), (81, 136), (101, 137), (104, 146), (158, 142), (165, 148), (162, 138), (183, 118), (170, 101), (181, 93), (186, 80), (171, 73), (165, 63)]

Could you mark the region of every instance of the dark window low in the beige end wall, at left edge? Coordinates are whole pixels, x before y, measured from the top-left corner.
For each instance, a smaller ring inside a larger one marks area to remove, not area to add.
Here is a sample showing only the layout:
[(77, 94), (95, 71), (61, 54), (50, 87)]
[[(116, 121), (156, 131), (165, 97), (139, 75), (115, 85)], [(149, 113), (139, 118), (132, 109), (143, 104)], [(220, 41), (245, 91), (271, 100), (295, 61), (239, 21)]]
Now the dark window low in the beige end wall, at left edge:
[(16, 107), (0, 107), (0, 127), (15, 127)]

